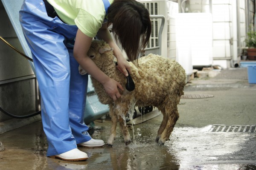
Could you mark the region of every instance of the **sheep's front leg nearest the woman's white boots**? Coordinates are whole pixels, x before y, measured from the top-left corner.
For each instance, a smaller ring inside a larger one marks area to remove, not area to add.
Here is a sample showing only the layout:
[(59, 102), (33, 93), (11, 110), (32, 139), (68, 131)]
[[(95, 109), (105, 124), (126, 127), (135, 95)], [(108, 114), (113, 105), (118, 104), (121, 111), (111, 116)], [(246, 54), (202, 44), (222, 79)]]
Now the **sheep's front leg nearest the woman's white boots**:
[(109, 106), (109, 115), (111, 117), (111, 129), (110, 129), (110, 136), (108, 138), (108, 142), (106, 146), (112, 147), (114, 140), (116, 139), (116, 124), (117, 124), (117, 115), (114, 113), (113, 106)]

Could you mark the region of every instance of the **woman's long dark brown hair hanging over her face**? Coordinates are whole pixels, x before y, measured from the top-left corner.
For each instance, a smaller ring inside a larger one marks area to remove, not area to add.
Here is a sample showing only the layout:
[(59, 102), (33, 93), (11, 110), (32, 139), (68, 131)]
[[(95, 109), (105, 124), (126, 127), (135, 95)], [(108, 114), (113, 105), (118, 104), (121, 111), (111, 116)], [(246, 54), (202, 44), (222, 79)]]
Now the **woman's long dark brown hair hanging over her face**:
[[(151, 20), (148, 9), (136, 0), (114, 0), (108, 8), (108, 24), (131, 62), (137, 61), (150, 38)], [(135, 62), (134, 62), (135, 63)]]

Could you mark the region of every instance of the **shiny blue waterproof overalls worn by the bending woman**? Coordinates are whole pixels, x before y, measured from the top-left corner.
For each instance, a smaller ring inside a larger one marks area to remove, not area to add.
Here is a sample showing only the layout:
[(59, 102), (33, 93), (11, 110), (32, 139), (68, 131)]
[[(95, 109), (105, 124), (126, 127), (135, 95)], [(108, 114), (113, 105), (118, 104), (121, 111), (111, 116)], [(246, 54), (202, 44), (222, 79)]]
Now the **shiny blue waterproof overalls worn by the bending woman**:
[[(104, 1), (104, 5), (110, 5)], [(73, 57), (78, 28), (58, 17), (48, 17), (42, 0), (24, 0), (20, 24), (32, 52), (41, 93), (47, 156), (77, 148), (76, 144), (91, 139), (83, 120), (88, 75), (79, 74), (79, 63)]]

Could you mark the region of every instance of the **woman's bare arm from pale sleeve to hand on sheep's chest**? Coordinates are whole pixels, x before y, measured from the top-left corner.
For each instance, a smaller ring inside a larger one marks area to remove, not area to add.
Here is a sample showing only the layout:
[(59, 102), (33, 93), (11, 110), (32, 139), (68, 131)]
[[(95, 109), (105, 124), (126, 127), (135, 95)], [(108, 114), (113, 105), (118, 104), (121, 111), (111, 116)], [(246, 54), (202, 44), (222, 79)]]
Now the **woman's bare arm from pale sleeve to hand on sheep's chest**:
[(108, 77), (103, 73), (95, 63), (87, 56), (87, 52), (90, 48), (92, 38), (88, 37), (81, 30), (78, 29), (76, 34), (76, 41), (74, 45), (74, 57), (76, 61), (90, 74), (93, 78), (98, 80), (103, 86), (105, 91), (113, 100), (116, 100), (121, 95), (119, 94), (118, 88), (124, 90), (122, 85), (119, 82), (116, 82), (114, 79)]

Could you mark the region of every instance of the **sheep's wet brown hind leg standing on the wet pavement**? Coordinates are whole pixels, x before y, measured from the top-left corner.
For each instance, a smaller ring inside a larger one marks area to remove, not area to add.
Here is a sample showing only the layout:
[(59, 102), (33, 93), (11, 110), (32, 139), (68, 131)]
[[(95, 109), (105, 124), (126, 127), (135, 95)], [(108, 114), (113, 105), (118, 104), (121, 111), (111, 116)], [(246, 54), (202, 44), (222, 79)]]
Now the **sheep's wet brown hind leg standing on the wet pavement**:
[(158, 141), (159, 144), (164, 144), (165, 141), (169, 140), (169, 137), (172, 133), (172, 130), (179, 118), (179, 113), (177, 110), (177, 105), (173, 106), (173, 108), (167, 106), (166, 107), (166, 118), (168, 119), (168, 123), (166, 125), (166, 128), (163, 130), (163, 133), (161, 134), (161, 137)]

